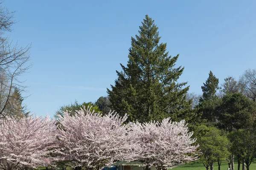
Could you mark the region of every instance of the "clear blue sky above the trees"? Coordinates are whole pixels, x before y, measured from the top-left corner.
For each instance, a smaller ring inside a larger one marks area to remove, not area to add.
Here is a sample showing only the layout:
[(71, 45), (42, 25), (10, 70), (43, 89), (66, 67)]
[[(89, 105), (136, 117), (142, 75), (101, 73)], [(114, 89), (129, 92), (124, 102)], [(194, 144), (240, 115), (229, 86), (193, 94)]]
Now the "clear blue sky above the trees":
[(29, 110), (52, 116), (62, 105), (95, 102), (126, 65), (131, 36), (146, 14), (169, 54), (185, 67), (179, 81), (201, 94), (211, 70), (220, 83), (256, 68), (255, 0), (6, 0), (18, 21), (11, 39), (32, 42)]

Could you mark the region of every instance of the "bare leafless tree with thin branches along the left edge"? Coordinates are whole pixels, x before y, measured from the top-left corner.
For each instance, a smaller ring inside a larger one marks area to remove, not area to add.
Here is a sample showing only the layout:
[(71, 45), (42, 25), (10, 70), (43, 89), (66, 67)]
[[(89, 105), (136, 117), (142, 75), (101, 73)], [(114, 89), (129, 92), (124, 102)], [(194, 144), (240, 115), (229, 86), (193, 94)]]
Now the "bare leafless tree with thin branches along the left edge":
[(9, 37), (3, 37), (4, 33), (12, 31), (11, 26), (15, 23), (14, 13), (2, 6), (0, 2), (0, 119), (11, 114), (16, 109), (12, 102), (14, 89), (24, 91), (25, 86), (19, 77), (30, 67), (29, 49), (13, 45)]

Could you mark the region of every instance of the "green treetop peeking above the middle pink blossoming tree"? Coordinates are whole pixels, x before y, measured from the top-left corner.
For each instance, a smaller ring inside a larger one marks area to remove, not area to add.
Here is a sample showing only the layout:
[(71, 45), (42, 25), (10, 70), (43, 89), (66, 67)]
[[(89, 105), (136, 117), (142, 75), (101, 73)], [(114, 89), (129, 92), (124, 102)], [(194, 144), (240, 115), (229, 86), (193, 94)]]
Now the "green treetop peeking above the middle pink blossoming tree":
[(63, 115), (63, 113), (65, 111), (68, 111), (70, 113), (70, 115), (75, 115), (76, 114), (76, 111), (79, 111), (81, 109), (87, 109), (87, 108), (90, 108), (90, 111), (93, 111), (96, 112), (96, 113), (102, 113), (100, 110), (99, 110), (99, 106), (93, 104), (92, 102), (83, 102), (81, 104), (79, 104), (77, 101), (75, 101), (74, 103), (71, 103), (70, 105), (63, 105), (61, 106), (58, 111), (55, 112), (55, 115), (54, 117), (56, 119), (58, 119), (58, 115)]

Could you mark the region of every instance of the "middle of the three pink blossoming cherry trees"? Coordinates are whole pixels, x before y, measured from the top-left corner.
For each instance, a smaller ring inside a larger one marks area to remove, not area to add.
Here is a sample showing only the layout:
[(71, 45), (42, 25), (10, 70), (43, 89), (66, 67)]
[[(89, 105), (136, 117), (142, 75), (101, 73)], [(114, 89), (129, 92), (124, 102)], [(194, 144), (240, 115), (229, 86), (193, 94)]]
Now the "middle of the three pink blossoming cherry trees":
[(123, 125), (126, 119), (113, 112), (102, 116), (90, 108), (74, 116), (64, 112), (59, 116), (58, 161), (69, 161), (75, 169), (99, 170), (114, 161), (132, 160), (140, 150), (135, 151), (139, 146), (136, 136)]

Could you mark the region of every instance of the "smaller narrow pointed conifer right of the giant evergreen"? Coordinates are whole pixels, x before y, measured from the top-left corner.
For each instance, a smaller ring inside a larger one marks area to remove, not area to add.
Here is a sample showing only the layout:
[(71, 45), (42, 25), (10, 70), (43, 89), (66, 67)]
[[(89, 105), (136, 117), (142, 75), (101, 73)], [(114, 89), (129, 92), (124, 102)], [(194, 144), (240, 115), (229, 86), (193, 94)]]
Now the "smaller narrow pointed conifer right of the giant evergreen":
[(219, 80), (213, 75), (212, 71), (203, 86), (201, 86), (203, 95), (200, 98), (198, 111), (202, 112), (202, 118), (207, 119), (209, 122), (216, 122), (216, 108), (220, 104), (220, 99), (216, 95)]

